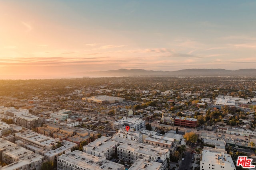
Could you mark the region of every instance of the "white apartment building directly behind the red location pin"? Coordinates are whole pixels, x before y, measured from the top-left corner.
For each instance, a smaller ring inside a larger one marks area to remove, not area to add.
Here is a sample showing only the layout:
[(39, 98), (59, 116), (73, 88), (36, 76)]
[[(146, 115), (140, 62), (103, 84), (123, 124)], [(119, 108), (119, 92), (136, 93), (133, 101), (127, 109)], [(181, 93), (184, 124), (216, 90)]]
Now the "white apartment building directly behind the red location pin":
[(113, 130), (117, 131), (118, 129), (125, 129), (125, 126), (128, 125), (130, 126), (130, 129), (138, 131), (139, 129), (144, 127), (145, 124), (146, 121), (142, 119), (123, 117), (122, 119), (113, 123)]

